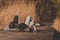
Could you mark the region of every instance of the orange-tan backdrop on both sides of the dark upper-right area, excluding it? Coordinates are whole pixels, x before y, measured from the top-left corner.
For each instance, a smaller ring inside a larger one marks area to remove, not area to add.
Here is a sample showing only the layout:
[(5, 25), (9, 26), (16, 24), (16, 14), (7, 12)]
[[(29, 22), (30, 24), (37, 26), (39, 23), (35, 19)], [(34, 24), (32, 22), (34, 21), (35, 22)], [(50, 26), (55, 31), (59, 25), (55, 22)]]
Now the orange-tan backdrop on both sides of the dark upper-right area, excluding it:
[[(0, 29), (9, 25), (9, 23), (13, 21), (15, 15), (18, 15), (19, 23), (24, 22), (28, 15), (36, 20), (37, 14), (35, 6), (38, 1), (39, 0), (0, 0)], [(57, 17), (54, 19), (53, 27), (60, 31), (60, 0), (51, 1), (57, 9)], [(44, 8), (40, 10), (40, 14), (42, 14), (43, 9)]]

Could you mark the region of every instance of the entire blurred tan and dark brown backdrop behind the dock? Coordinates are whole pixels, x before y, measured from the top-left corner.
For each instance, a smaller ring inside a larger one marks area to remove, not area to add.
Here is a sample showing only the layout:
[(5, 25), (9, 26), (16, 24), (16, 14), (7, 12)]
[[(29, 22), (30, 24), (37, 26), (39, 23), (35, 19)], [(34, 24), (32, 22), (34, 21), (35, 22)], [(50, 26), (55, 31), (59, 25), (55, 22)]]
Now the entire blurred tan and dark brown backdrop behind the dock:
[(0, 0), (0, 29), (8, 26), (15, 15), (19, 24), (30, 15), (41, 24), (52, 23), (60, 31), (60, 0)]

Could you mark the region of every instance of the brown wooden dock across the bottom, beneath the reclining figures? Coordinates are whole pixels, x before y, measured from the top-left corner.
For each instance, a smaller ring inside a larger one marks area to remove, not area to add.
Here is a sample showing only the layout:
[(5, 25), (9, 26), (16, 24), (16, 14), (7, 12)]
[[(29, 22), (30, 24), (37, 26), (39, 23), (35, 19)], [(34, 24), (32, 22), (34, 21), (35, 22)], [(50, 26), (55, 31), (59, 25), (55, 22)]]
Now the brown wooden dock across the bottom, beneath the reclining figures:
[(0, 32), (0, 40), (53, 40), (53, 31), (48, 27), (40, 29), (40, 32)]

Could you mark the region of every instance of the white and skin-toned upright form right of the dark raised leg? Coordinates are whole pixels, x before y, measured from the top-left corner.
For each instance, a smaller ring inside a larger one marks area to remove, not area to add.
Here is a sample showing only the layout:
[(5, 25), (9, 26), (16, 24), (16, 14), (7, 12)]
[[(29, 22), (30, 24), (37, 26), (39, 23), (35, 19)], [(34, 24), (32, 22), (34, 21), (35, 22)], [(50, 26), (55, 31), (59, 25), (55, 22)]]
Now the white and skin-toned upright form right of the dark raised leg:
[(27, 17), (27, 19), (26, 19), (26, 21), (25, 21), (25, 24), (27, 25), (27, 26), (29, 26), (29, 31), (36, 31), (37, 30), (37, 28), (36, 28), (36, 26), (34, 25), (35, 24), (35, 22), (34, 22), (34, 20), (32, 19), (32, 17), (31, 16), (28, 16)]

